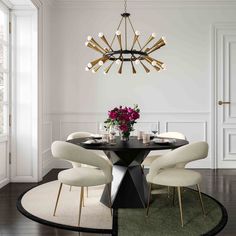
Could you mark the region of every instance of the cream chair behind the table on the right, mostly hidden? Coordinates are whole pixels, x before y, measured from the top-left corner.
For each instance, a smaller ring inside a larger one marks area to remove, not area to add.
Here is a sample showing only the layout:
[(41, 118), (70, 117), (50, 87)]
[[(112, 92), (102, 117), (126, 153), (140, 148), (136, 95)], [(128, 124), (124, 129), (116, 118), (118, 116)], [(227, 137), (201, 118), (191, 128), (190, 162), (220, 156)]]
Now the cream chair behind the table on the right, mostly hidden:
[[(176, 139), (184, 139), (186, 140), (186, 137), (184, 134), (179, 133), (179, 132), (165, 132), (165, 133), (160, 133), (157, 135), (159, 138), (176, 138)], [(163, 154), (159, 155), (148, 155), (144, 161), (142, 162), (142, 166), (150, 166), (154, 160), (156, 160), (158, 157), (162, 156)]]

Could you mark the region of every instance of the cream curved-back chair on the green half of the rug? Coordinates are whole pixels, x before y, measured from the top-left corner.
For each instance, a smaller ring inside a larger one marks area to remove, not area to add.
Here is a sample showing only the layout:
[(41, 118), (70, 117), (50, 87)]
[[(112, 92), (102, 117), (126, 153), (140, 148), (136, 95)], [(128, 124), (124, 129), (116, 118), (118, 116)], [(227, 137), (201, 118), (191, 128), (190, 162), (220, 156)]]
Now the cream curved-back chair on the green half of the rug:
[(206, 158), (208, 155), (208, 144), (206, 142), (195, 142), (180, 148), (168, 152), (163, 156), (157, 158), (152, 162), (149, 173), (147, 175), (147, 182), (149, 183), (149, 198), (146, 215), (149, 212), (150, 195), (155, 193), (152, 191), (152, 184), (171, 186), (177, 188), (179, 208), (180, 208), (180, 220), (183, 227), (183, 210), (181, 201), (181, 187), (188, 187), (196, 185), (201, 202), (203, 214), (205, 216), (205, 210), (203, 206), (202, 196), (200, 192), (199, 184), (202, 181), (200, 173), (187, 170), (183, 168), (168, 168), (169, 166), (175, 166), (181, 163), (189, 163), (194, 160)]

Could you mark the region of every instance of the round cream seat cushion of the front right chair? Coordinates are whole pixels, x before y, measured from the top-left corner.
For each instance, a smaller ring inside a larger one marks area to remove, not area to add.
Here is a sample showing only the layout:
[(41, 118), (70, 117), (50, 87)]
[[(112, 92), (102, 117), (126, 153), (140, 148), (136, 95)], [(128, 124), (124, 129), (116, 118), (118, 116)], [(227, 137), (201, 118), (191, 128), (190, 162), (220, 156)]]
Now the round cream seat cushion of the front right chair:
[(164, 169), (152, 180), (152, 183), (165, 186), (192, 186), (202, 181), (200, 173), (186, 169)]

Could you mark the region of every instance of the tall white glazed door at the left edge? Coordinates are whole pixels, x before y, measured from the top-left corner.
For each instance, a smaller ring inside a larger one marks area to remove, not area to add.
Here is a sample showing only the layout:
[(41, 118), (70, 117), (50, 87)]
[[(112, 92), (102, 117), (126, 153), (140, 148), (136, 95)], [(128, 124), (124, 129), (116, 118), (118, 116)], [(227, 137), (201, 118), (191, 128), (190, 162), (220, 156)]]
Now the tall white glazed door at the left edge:
[(9, 10), (0, 2), (0, 188), (9, 182)]

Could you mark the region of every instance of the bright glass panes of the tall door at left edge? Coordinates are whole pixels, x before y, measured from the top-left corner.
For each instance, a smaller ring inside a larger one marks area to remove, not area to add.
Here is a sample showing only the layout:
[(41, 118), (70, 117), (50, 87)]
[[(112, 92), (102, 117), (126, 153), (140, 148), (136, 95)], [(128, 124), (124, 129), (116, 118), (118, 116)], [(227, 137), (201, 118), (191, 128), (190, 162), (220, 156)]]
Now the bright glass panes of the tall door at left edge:
[(7, 134), (9, 88), (9, 12), (0, 2), (0, 135)]

